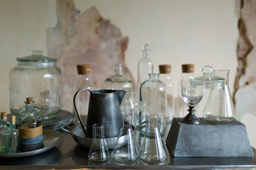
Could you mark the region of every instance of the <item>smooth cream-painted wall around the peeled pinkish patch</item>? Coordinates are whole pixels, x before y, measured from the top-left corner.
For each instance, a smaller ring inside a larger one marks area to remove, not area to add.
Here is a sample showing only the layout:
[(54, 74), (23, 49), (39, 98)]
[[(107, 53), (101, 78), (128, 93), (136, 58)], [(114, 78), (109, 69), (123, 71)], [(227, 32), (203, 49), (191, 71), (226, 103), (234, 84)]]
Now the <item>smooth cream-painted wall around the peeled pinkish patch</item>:
[[(43, 50), (46, 29), (56, 25), (53, 0), (0, 0), (0, 111), (9, 111), (8, 73), (16, 57)], [(237, 1), (235, 0), (76, 0), (77, 10), (96, 6), (100, 14), (129, 36), (125, 62), (134, 78), (141, 47), (151, 46), (154, 72), (172, 64), (177, 89), (181, 64), (194, 63), (196, 75), (205, 65), (236, 74)], [(176, 90), (175, 90), (176, 91)], [(71, 102), (70, 102), (71, 104)], [(252, 135), (250, 135), (251, 138)], [(256, 139), (251, 138), (256, 146)]]

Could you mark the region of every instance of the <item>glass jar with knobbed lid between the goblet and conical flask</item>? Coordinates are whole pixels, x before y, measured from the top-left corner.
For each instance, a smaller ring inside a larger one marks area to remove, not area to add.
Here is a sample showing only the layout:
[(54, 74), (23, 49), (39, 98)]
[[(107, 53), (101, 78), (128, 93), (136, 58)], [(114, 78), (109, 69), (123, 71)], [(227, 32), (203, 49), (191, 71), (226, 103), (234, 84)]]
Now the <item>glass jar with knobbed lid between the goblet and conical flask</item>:
[(195, 107), (196, 109), (196, 115), (198, 117), (204, 117), (204, 108), (205, 104), (207, 103), (207, 100), (209, 98), (211, 89), (212, 89), (212, 84), (213, 84), (213, 68), (212, 66), (204, 66), (202, 68), (202, 76), (195, 77), (195, 80), (198, 81), (205, 81), (205, 90), (204, 90), (204, 96), (200, 103)]

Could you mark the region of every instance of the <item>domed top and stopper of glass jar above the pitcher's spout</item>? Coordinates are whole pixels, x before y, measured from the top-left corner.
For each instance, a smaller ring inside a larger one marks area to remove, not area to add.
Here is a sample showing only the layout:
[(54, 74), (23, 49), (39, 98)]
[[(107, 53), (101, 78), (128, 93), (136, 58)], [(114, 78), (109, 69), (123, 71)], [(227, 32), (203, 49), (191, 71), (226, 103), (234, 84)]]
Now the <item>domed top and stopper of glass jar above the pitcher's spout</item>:
[(104, 80), (102, 88), (110, 90), (134, 90), (134, 83), (130, 78), (124, 76), (122, 64), (116, 64), (115, 74)]

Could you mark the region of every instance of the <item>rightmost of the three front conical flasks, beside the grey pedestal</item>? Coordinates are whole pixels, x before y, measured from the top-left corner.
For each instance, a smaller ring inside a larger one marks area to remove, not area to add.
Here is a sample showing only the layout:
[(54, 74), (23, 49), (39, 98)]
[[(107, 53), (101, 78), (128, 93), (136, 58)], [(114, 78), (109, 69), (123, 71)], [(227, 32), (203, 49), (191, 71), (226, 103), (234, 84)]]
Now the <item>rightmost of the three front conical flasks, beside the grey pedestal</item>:
[(157, 115), (148, 115), (148, 127), (140, 151), (143, 162), (157, 164), (167, 159), (163, 139), (157, 126)]

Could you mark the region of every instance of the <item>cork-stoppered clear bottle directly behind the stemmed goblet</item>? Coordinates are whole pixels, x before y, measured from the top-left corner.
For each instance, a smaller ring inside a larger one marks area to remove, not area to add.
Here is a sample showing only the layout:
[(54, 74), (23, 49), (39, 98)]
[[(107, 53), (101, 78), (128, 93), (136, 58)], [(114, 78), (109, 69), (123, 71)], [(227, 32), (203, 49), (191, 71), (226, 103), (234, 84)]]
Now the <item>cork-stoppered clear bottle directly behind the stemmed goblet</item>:
[(185, 117), (188, 114), (188, 106), (184, 103), (181, 95), (181, 80), (188, 80), (194, 76), (194, 64), (182, 64), (182, 74), (178, 85), (177, 94), (177, 111), (175, 117)]

